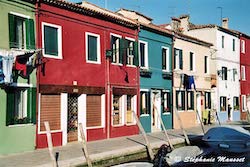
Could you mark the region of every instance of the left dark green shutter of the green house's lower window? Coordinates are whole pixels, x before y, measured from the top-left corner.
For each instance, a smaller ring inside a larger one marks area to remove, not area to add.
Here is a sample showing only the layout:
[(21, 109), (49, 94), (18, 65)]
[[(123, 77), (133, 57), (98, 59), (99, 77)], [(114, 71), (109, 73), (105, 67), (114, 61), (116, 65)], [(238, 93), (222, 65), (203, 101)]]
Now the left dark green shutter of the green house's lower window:
[(7, 109), (6, 109), (6, 125), (12, 125), (14, 123), (14, 104), (15, 94), (13, 91), (7, 91)]

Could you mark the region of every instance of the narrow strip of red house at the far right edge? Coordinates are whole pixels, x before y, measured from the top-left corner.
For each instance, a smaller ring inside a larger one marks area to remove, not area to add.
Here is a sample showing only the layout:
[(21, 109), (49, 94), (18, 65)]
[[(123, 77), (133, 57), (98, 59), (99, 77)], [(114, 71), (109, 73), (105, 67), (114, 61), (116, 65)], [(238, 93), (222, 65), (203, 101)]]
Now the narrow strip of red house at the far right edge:
[(250, 36), (240, 36), (240, 72), (241, 72), (241, 119), (247, 119), (250, 109)]

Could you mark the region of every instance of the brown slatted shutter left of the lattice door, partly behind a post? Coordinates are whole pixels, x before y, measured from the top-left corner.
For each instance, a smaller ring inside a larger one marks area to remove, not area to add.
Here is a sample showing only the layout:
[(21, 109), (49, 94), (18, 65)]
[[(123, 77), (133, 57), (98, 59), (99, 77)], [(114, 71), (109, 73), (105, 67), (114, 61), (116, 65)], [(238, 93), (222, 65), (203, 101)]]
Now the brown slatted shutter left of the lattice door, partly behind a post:
[(61, 129), (60, 95), (41, 95), (40, 131), (45, 131), (44, 121), (48, 121), (50, 130)]

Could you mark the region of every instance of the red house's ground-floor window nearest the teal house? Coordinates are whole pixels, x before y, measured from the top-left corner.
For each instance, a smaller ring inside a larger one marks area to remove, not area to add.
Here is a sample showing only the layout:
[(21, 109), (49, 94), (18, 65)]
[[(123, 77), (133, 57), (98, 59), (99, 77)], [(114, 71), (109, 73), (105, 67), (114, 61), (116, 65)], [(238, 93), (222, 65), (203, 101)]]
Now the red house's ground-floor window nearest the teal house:
[(134, 113), (136, 112), (136, 96), (127, 95), (127, 111), (126, 111), (126, 124), (135, 122)]

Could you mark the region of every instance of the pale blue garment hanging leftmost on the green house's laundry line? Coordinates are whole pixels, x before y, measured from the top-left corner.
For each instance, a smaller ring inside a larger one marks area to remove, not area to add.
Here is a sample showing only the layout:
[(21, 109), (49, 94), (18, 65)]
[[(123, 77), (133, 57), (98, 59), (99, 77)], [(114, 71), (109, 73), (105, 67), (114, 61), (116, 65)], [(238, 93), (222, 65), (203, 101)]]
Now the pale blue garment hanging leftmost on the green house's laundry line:
[(4, 74), (4, 82), (11, 83), (12, 82), (12, 68), (14, 63), (14, 57), (8, 56), (3, 57), (3, 74)]

